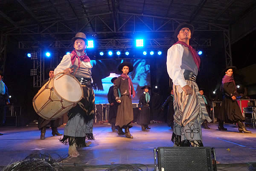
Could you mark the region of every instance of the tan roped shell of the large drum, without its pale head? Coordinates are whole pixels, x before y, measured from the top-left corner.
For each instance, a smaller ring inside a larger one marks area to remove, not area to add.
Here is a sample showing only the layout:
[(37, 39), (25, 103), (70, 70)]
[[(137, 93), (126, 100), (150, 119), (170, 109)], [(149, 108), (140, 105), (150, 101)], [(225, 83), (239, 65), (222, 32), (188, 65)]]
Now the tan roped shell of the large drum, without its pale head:
[[(46, 84), (44, 84), (44, 86), (41, 87), (41, 89), (38, 91), (38, 93), (35, 95), (33, 99), (33, 107), (36, 113), (38, 113), (39, 116), (47, 120), (55, 120), (60, 118), (62, 115), (64, 115), (64, 113), (67, 113), (72, 107), (76, 106), (76, 104), (82, 99), (82, 96), (81, 99), (76, 102), (63, 99), (54, 90), (53, 80), (54, 79), (51, 79)], [(77, 82), (79, 84), (79, 81)]]

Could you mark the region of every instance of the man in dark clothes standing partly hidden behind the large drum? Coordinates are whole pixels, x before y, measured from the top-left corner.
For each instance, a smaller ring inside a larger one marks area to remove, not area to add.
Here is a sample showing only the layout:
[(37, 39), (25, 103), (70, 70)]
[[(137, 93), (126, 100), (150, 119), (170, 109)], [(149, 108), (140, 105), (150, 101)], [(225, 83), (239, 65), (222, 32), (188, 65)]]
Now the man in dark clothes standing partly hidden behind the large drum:
[[(47, 73), (49, 74), (49, 78), (44, 80), (44, 84), (46, 84), (49, 80), (53, 79), (54, 77), (54, 68), (47, 69)], [(58, 133), (58, 127), (62, 125), (62, 119), (55, 119), (55, 120), (47, 120), (39, 116), (38, 118), (38, 128), (41, 130), (41, 136), (40, 139), (45, 139), (45, 132), (47, 127), (52, 128), (52, 136), (61, 136), (61, 133)]]

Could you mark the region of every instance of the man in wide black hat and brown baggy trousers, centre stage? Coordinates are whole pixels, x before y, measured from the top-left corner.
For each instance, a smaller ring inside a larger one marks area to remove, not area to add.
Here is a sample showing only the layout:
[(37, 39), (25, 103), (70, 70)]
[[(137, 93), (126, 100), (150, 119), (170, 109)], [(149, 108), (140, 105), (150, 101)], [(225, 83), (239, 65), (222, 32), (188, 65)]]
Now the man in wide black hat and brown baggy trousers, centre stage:
[[(122, 135), (122, 128), (125, 129), (125, 136), (127, 138), (133, 138), (129, 128), (132, 127), (133, 107), (131, 103), (131, 95), (134, 98), (135, 90), (131, 82), (131, 78), (128, 76), (129, 72), (133, 71), (133, 65), (130, 62), (123, 62), (118, 67), (119, 72), (122, 72), (116, 79), (114, 86), (114, 96), (116, 102), (119, 103), (116, 115), (116, 126), (118, 127), (117, 133)], [(118, 89), (121, 97), (119, 98)]]

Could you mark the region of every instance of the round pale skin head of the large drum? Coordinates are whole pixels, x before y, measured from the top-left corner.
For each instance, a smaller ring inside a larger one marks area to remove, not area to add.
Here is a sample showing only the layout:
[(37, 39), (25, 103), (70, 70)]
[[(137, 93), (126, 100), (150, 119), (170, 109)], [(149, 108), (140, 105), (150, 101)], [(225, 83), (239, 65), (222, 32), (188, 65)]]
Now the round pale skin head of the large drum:
[[(64, 75), (59, 78), (61, 75), (57, 74), (53, 79), (53, 86), (56, 93), (67, 101), (80, 101), (83, 96), (83, 89), (79, 81), (72, 75)], [(57, 78), (59, 79), (57, 80)]]

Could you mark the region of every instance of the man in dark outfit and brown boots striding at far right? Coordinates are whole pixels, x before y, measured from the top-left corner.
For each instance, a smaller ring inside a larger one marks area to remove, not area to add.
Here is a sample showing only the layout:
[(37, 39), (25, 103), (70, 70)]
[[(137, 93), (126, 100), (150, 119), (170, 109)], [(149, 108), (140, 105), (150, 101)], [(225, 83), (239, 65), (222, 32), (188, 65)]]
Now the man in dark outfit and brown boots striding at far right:
[(236, 122), (239, 127), (239, 132), (251, 133), (244, 126), (244, 117), (242, 116), (239, 105), (236, 101), (237, 90), (236, 83), (233, 78), (233, 70), (236, 67), (230, 66), (225, 69), (226, 75), (222, 78), (221, 91), (222, 91), (222, 113), (218, 116), (218, 129), (227, 130), (224, 128), (224, 122)]

